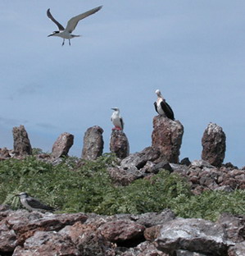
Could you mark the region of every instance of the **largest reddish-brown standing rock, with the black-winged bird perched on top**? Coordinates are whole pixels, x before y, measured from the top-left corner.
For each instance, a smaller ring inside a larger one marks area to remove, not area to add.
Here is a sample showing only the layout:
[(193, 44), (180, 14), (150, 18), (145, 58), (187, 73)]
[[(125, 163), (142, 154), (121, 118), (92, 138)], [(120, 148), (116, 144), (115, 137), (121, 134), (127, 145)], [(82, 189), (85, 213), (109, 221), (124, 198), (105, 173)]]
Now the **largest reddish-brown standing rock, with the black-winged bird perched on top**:
[(153, 118), (152, 147), (160, 149), (162, 158), (168, 162), (179, 162), (183, 134), (184, 126), (180, 121), (162, 116)]

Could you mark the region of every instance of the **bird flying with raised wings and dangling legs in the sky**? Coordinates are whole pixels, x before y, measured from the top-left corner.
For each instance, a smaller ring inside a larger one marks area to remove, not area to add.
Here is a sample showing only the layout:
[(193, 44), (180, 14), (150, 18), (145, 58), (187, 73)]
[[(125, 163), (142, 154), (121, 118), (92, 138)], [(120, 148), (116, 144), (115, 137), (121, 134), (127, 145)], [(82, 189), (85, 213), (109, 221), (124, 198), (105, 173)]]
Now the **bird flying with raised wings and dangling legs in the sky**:
[(66, 25), (66, 29), (52, 16), (50, 9), (48, 9), (47, 11), (47, 16), (48, 18), (53, 21), (57, 27), (58, 27), (58, 31), (53, 31), (52, 34), (49, 34), (48, 36), (59, 36), (63, 39), (63, 43), (62, 45), (64, 45), (65, 43), (65, 39), (69, 40), (69, 44), (70, 44), (70, 39), (73, 39), (75, 37), (79, 37), (80, 35), (76, 35), (76, 34), (71, 34), (73, 30), (75, 30), (76, 25), (79, 23), (80, 20), (83, 20), (84, 18), (92, 15), (93, 13), (99, 11), (101, 7), (96, 7), (93, 8), (92, 10), (86, 11), (82, 14), (79, 14), (78, 16), (74, 16), (72, 17)]

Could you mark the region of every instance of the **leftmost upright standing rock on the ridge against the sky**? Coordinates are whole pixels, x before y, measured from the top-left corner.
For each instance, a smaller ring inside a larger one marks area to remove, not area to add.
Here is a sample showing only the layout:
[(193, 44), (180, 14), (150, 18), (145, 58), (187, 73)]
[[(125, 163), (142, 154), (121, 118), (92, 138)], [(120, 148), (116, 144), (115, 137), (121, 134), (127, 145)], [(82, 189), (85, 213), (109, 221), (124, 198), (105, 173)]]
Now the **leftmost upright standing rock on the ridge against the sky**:
[(20, 155), (31, 154), (32, 149), (25, 126), (14, 127), (12, 132), (14, 139), (14, 152)]

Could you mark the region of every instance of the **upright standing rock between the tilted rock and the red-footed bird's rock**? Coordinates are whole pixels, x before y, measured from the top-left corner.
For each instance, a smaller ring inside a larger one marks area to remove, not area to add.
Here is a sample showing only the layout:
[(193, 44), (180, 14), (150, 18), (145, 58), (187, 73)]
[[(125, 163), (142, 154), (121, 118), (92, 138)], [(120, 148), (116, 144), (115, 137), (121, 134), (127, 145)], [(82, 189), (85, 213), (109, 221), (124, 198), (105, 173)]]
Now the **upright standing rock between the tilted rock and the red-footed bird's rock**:
[(103, 132), (104, 130), (100, 126), (93, 126), (86, 130), (82, 158), (95, 160), (102, 155), (104, 148)]

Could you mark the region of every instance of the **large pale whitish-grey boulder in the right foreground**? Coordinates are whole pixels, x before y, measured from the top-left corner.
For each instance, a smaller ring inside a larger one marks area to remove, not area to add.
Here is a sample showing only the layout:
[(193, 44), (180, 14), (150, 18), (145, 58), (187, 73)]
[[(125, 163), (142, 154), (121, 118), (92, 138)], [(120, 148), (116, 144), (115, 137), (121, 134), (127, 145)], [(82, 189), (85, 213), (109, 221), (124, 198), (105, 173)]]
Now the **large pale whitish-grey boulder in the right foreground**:
[(161, 226), (157, 237), (157, 249), (174, 254), (177, 249), (184, 249), (202, 254), (227, 254), (228, 246), (223, 227), (203, 219), (178, 218)]

